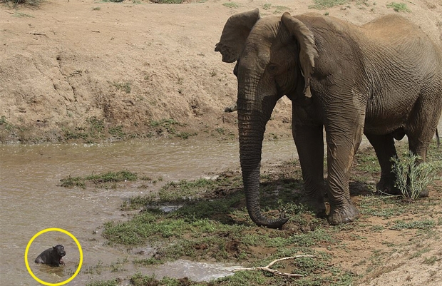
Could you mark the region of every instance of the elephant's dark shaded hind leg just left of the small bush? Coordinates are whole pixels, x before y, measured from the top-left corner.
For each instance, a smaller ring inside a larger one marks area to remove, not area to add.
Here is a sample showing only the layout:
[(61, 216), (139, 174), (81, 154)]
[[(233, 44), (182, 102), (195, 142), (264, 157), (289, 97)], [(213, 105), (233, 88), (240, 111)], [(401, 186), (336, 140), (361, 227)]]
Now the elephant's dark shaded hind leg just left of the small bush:
[(396, 148), (394, 147), (395, 136), (397, 136), (396, 132), (386, 135), (366, 134), (366, 138), (369, 139), (376, 152), (379, 165), (381, 165), (381, 179), (377, 183), (376, 189), (382, 193), (400, 195), (401, 192), (394, 187), (396, 175), (391, 173), (391, 157), (397, 157)]

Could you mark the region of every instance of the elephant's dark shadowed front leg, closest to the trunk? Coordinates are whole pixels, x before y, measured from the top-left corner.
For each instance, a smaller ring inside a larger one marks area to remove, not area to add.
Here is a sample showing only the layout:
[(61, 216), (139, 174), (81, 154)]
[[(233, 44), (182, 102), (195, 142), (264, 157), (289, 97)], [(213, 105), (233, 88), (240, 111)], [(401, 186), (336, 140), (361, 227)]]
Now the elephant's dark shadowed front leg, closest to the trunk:
[(325, 217), (324, 204), (324, 139), (322, 126), (293, 123), (293, 138), (297, 146), (306, 197), (304, 203)]

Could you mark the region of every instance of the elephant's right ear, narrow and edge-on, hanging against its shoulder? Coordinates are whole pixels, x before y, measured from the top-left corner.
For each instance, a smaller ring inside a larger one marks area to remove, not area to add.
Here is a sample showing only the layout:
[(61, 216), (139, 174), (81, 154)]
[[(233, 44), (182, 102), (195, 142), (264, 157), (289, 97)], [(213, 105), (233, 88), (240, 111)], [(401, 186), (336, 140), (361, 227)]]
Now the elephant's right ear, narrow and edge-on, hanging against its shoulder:
[(314, 69), (314, 57), (318, 56), (317, 48), (314, 44), (314, 35), (302, 21), (290, 16), (288, 12), (282, 14), (281, 21), (289, 30), (289, 33), (299, 42), (299, 63), (301, 64), (301, 71), (305, 81), (304, 94), (307, 97), (312, 97), (310, 78), (312, 78)]

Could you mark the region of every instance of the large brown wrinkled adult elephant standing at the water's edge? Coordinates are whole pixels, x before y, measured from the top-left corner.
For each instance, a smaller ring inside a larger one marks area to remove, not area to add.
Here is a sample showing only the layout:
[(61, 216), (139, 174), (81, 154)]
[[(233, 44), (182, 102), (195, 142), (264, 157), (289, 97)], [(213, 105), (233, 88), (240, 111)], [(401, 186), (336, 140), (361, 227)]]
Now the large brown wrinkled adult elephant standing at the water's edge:
[[(349, 174), (362, 133), (381, 165), (377, 188), (394, 193), (390, 158), (394, 138), (426, 159), (442, 109), (442, 53), (423, 31), (400, 16), (363, 26), (319, 14), (260, 18), (258, 9), (227, 20), (215, 51), (237, 62), (240, 162), (247, 210), (257, 225), (281, 228), (259, 208), (259, 168), (267, 121), (277, 100), (292, 101), (292, 132), (309, 205), (329, 223), (359, 216)], [(324, 141), (327, 140), (327, 186)]]

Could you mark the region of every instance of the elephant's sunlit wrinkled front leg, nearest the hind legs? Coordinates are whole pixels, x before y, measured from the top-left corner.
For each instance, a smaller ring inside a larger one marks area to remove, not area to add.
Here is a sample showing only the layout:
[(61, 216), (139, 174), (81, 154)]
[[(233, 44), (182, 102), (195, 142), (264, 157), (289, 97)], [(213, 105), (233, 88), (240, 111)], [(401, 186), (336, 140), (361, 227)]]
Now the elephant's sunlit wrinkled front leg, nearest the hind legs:
[(363, 121), (340, 123), (336, 128), (326, 126), (327, 132), (327, 194), (330, 213), (327, 218), (331, 225), (350, 223), (359, 217), (351, 203), (349, 180), (351, 163), (361, 143)]

